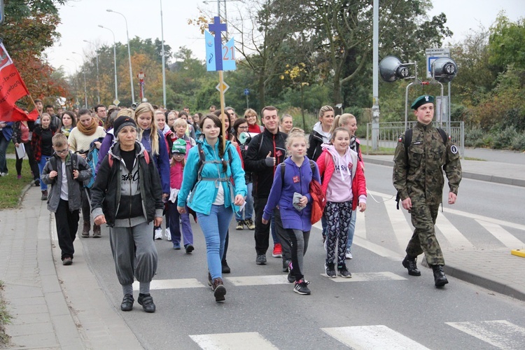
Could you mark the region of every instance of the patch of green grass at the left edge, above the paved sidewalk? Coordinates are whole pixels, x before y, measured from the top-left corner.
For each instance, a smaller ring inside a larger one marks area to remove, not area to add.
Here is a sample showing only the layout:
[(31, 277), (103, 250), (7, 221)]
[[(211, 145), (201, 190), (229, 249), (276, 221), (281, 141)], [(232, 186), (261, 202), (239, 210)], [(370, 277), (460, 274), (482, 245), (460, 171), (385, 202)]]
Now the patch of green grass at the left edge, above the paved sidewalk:
[(7, 160), (7, 167), (9, 175), (0, 177), (0, 210), (18, 207), (22, 190), (33, 182), (27, 158), (22, 163), (22, 179), (17, 179), (14, 159)]

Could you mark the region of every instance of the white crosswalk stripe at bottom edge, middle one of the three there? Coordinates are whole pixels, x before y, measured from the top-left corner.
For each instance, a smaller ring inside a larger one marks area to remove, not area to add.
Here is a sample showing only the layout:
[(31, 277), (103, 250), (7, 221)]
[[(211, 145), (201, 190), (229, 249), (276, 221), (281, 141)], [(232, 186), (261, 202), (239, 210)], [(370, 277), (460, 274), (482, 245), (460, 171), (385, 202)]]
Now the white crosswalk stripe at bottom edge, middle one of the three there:
[(428, 349), (418, 342), (414, 342), (409, 337), (405, 337), (405, 335), (386, 327), (386, 325), (321, 328), (321, 330), (352, 349)]

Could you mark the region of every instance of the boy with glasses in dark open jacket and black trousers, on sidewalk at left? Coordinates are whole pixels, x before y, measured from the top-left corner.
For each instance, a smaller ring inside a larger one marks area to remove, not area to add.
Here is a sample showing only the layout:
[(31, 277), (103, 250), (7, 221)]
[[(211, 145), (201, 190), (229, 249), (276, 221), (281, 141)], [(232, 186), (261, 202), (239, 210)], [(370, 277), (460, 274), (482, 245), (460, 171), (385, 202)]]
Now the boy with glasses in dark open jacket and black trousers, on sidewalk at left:
[(64, 134), (58, 133), (52, 137), (52, 148), (55, 153), (45, 163), (41, 179), (51, 186), (48, 209), (55, 213), (62, 265), (71, 265), (79, 209), (82, 207), (80, 192), (83, 182), (89, 181), (91, 177), (91, 169), (84, 158), (69, 151)]

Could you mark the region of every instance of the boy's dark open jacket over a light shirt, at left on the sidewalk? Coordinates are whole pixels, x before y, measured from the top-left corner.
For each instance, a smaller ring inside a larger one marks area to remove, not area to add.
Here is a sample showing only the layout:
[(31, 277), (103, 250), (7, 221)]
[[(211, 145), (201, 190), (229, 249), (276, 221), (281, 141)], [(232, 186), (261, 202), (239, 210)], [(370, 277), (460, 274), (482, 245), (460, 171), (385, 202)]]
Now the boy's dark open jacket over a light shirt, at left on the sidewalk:
[[(54, 167), (56, 167), (54, 169)], [(73, 179), (73, 169), (78, 170), (78, 178)], [(50, 179), (49, 173), (55, 170), (58, 175)], [(66, 157), (66, 179), (68, 189), (69, 211), (78, 210), (82, 207), (81, 191), (84, 190), (83, 181), (90, 179), (91, 169), (84, 158), (69, 151)], [(51, 185), (48, 196), (48, 209), (53, 213), (57, 212), (60, 202), (60, 188), (62, 187), (62, 159), (56, 154), (52, 155), (42, 170), (41, 180)]]

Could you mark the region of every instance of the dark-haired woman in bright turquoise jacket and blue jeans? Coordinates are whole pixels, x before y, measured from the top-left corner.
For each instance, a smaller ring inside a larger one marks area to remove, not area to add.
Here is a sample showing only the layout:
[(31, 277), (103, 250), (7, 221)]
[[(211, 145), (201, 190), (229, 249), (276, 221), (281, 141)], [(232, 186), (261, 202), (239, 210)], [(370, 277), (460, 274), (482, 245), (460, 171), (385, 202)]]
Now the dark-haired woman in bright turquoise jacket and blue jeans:
[(205, 116), (200, 121), (200, 129), (204, 139), (198, 140), (197, 147), (188, 153), (177, 210), (184, 214), (187, 205), (197, 213), (197, 222), (206, 239), (209, 284), (215, 300), (222, 302), (226, 294), (221, 265), (226, 232), (233, 212), (244, 204), (246, 183), (235, 146), (226, 141), (223, 148), (221, 120), (213, 115)]

